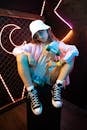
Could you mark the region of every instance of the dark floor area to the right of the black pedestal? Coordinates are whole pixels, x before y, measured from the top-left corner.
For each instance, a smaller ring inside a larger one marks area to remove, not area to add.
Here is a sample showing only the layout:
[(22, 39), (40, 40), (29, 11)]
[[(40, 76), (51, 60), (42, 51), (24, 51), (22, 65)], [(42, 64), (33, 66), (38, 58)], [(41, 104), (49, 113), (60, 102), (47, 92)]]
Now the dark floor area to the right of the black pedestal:
[(87, 111), (64, 100), (61, 130), (87, 130)]

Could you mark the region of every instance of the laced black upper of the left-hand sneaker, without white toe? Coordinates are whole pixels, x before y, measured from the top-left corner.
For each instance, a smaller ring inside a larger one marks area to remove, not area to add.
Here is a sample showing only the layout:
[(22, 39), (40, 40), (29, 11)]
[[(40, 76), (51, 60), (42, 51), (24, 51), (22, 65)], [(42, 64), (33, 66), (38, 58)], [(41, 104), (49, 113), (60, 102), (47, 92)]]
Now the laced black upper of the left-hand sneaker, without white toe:
[(35, 89), (31, 90), (31, 91), (28, 92), (28, 95), (31, 99), (32, 108), (36, 109), (36, 108), (40, 107), (40, 101), (39, 101), (39, 98), (38, 98), (38, 95), (37, 95), (37, 91)]

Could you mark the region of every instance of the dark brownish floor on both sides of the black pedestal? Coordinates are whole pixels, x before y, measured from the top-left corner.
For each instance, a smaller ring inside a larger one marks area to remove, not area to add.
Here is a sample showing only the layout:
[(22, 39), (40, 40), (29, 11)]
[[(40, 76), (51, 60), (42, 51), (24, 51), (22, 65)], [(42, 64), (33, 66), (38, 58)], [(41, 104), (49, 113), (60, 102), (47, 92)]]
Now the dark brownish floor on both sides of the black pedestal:
[[(64, 100), (60, 130), (87, 130), (87, 111)], [(0, 130), (27, 130), (26, 103), (0, 115)]]

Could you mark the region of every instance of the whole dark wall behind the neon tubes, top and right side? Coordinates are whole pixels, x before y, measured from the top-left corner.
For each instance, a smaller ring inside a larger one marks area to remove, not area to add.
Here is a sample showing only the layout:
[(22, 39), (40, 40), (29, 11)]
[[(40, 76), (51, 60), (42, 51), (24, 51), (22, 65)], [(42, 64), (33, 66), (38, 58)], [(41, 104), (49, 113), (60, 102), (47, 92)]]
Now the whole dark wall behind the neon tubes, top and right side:
[[(0, 1), (0, 8), (40, 14), (42, 2), (43, 0), (3, 0)], [(57, 3), (58, 0), (47, 0), (43, 16), (52, 26), (55, 35), (61, 39), (69, 28), (53, 12)], [(70, 75), (71, 84), (64, 90), (63, 96), (80, 107), (87, 108), (87, 1), (64, 0), (58, 12), (73, 25), (74, 37), (69, 43), (75, 44), (80, 52)]]

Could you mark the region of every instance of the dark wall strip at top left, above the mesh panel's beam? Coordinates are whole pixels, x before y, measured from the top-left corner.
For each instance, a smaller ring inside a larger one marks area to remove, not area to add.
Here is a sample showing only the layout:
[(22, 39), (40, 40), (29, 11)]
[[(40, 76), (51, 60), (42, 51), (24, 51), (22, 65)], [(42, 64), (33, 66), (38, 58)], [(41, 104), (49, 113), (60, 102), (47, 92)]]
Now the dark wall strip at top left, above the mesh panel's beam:
[(0, 8), (40, 14), (43, 0), (1, 0)]

